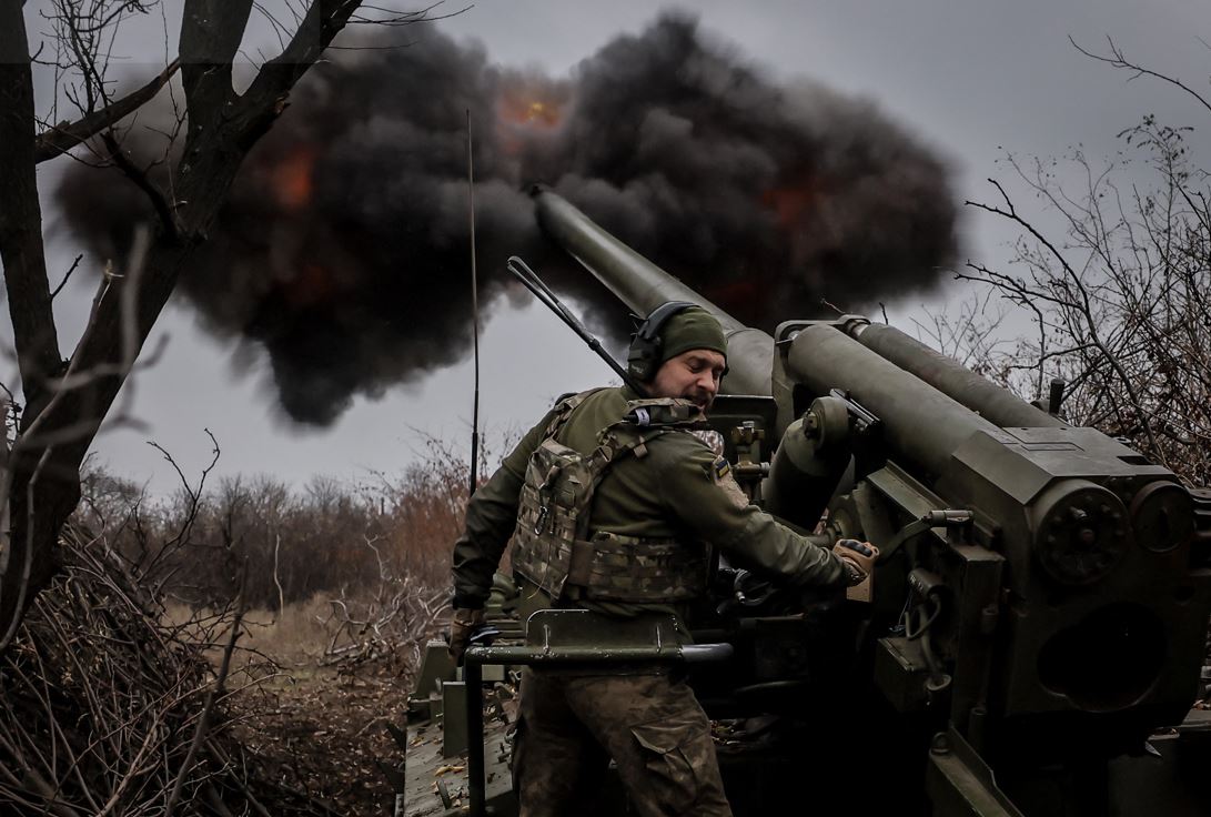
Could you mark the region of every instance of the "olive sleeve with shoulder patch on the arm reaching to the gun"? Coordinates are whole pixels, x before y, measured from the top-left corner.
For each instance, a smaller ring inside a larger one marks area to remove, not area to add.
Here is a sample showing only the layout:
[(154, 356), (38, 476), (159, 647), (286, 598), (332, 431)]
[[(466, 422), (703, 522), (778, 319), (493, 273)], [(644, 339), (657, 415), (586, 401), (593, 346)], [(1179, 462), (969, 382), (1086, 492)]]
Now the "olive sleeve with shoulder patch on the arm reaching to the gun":
[(748, 502), (727, 460), (688, 436), (662, 445), (658, 477), (668, 511), (695, 536), (745, 566), (792, 585), (844, 587), (844, 563), (831, 551)]

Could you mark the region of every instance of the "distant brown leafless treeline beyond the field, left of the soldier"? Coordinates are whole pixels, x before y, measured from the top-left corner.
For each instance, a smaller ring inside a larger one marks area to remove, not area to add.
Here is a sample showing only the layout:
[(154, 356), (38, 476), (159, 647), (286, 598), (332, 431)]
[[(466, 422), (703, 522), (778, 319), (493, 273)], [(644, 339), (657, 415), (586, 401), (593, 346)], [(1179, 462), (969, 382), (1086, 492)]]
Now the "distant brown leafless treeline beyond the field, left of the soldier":
[(411, 576), (440, 586), (463, 527), (467, 464), (436, 441), (398, 477), (302, 488), (268, 476), (224, 477), (150, 499), (104, 471), (85, 474), (78, 525), (103, 537), (149, 589), (193, 605), (277, 608), (316, 593)]

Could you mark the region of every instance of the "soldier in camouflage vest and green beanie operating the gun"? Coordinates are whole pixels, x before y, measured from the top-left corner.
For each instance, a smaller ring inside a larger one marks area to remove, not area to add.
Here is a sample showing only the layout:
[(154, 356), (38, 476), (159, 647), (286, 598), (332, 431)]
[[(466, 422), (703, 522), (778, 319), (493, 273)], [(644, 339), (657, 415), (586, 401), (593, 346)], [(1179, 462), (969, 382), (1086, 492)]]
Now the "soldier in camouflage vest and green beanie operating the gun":
[[(676, 614), (700, 597), (704, 543), (785, 583), (862, 581), (873, 546), (832, 551), (750, 505), (728, 462), (691, 433), (727, 368), (705, 310), (672, 301), (639, 327), (629, 374), (647, 395), (599, 389), (561, 399), (472, 496), (454, 546), (450, 651), (483, 622), (512, 534), (523, 610), (580, 606), (608, 616)], [(665, 668), (522, 674), (513, 786), (523, 817), (595, 812), (613, 758), (644, 817), (730, 815), (710, 721)]]

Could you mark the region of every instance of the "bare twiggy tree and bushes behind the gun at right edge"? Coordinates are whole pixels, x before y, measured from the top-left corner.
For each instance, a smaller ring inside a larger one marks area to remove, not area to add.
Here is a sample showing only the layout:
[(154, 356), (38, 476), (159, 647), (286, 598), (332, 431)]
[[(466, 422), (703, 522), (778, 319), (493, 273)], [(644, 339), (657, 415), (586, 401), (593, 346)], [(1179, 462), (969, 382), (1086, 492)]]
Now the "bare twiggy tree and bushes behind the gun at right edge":
[[(1200, 116), (1211, 113), (1206, 98), (1113, 41), (1106, 54), (1081, 52), (1160, 79)], [(1069, 419), (1131, 439), (1196, 484), (1211, 468), (1211, 176), (1192, 153), (1192, 130), (1144, 116), (1104, 166), (1080, 149), (1062, 163), (1010, 156), (1016, 182), (1060, 218), (1062, 235), (989, 179), (998, 200), (968, 205), (1021, 228), (1016, 264), (969, 264), (958, 277), (991, 286), (1033, 323), (988, 367), (1003, 381), (1034, 397), (1051, 378), (1067, 380)]]

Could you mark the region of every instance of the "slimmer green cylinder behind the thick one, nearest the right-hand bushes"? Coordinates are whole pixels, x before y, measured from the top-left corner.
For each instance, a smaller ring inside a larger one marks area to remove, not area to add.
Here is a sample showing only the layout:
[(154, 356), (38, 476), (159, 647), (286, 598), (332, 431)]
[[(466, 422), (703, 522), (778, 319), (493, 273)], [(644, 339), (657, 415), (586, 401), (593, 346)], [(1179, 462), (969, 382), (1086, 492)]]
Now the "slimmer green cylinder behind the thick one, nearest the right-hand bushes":
[(1067, 426), (1063, 420), (1039, 410), (900, 329), (877, 323), (854, 323), (849, 333), (879, 357), (911, 372), (1001, 428)]

